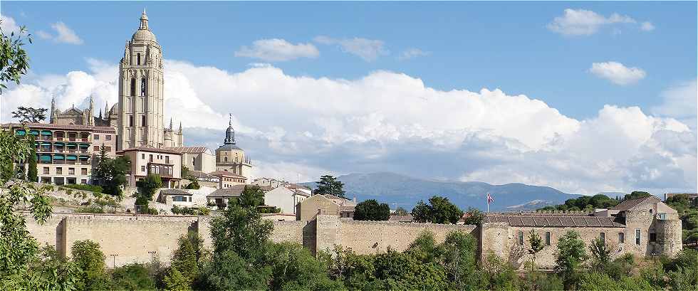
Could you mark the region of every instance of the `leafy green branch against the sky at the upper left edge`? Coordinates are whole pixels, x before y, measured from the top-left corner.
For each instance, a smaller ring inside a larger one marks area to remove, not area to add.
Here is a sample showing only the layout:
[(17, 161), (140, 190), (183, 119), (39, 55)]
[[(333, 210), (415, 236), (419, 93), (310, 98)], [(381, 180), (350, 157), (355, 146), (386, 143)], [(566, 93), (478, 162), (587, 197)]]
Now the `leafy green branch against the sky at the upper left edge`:
[(7, 88), (7, 82), (19, 85), (19, 80), (29, 68), (29, 57), (24, 50), (25, 40), (31, 43), (31, 34), (24, 26), (19, 28), (16, 35), (0, 28), (0, 94)]

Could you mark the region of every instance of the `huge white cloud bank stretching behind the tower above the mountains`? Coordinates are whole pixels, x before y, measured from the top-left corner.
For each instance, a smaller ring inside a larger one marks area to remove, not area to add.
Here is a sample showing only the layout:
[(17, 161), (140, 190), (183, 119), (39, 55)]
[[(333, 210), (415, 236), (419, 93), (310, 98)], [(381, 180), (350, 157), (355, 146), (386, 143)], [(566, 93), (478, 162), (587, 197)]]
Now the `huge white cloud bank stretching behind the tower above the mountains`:
[[(115, 100), (114, 65), (90, 65), (90, 73), (8, 90), (2, 117), (19, 103), (46, 106), (51, 95), (62, 107), (84, 106), (90, 94)], [(184, 142), (216, 147), (232, 112), (255, 176), (296, 181), (300, 173), (308, 181), (327, 172), (395, 171), (583, 194), (696, 191), (698, 184), (695, 129), (638, 107), (607, 105), (576, 120), (526, 95), (442, 91), (387, 71), (343, 80), (271, 65), (233, 73), (167, 60), (165, 72), (165, 119), (182, 120)]]

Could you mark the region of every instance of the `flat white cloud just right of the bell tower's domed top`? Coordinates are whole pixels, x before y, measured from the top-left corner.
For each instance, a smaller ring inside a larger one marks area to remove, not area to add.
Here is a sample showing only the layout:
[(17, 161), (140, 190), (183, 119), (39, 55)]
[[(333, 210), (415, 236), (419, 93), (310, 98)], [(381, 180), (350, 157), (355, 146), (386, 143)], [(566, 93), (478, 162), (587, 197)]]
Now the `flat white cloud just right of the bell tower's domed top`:
[(297, 58), (317, 58), (318, 48), (312, 43), (293, 44), (279, 38), (254, 41), (252, 47), (243, 46), (235, 52), (236, 57), (259, 58), (260, 60), (284, 61)]

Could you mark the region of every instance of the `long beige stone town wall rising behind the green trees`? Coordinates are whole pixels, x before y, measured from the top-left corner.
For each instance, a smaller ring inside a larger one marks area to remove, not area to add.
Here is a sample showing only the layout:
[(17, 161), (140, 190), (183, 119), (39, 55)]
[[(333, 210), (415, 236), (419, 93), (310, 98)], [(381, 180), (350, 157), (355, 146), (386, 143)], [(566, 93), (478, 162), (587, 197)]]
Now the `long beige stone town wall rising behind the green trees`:
[[(56, 245), (62, 255), (70, 256), (77, 240), (100, 244), (108, 267), (150, 262), (157, 257), (169, 264), (177, 240), (189, 231), (199, 233), (207, 248), (212, 247), (211, 216), (134, 216), (91, 213), (53, 213), (46, 223), (27, 217), (27, 228), (38, 243)], [(350, 221), (337, 216), (318, 215), (313, 221), (274, 222), (271, 240), (301, 243), (316, 253), (343, 245), (356, 253), (381, 253), (405, 250), (422, 231), (431, 231), (441, 242), (449, 231), (475, 232), (475, 226), (390, 221)]]

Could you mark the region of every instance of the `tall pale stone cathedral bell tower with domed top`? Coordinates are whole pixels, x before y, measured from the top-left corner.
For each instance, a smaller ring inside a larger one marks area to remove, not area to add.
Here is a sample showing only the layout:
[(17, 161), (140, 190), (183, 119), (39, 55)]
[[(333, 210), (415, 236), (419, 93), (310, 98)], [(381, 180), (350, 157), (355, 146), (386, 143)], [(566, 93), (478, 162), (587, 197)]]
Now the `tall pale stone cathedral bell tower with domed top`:
[(140, 26), (126, 41), (119, 63), (119, 150), (163, 146), (163, 85), (162, 47), (143, 9)]

